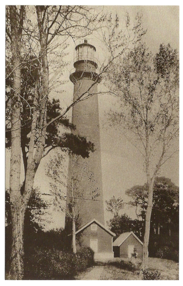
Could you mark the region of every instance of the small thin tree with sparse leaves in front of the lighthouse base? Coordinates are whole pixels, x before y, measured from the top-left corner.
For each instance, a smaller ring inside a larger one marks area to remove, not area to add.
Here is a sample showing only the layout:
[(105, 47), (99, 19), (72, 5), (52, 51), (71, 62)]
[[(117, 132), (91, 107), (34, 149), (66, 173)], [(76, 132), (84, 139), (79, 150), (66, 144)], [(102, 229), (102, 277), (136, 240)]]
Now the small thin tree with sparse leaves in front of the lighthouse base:
[[(50, 178), (50, 192), (53, 195), (54, 204), (65, 213), (72, 222), (72, 249), (76, 253), (76, 223), (80, 223), (85, 188), (90, 188), (90, 200), (98, 198), (94, 174), (89, 169), (87, 162), (80, 162), (81, 156), (69, 152), (69, 174), (66, 168), (65, 156), (57, 153), (47, 163), (47, 176)], [(67, 176), (68, 175), (68, 176)], [(69, 179), (68, 179), (68, 178)], [(81, 181), (85, 185), (81, 187)], [(92, 182), (92, 183), (91, 183)], [(64, 190), (65, 188), (65, 190)], [(67, 195), (65, 194), (67, 188)]]

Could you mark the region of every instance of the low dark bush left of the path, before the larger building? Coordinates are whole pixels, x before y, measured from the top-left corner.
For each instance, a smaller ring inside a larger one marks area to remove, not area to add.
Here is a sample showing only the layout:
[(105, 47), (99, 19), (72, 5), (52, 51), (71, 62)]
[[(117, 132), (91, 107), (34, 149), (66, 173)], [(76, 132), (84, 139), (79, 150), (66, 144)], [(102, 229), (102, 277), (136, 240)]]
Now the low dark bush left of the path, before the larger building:
[(25, 259), (24, 279), (71, 280), (94, 263), (94, 251), (84, 247), (78, 253), (35, 248)]

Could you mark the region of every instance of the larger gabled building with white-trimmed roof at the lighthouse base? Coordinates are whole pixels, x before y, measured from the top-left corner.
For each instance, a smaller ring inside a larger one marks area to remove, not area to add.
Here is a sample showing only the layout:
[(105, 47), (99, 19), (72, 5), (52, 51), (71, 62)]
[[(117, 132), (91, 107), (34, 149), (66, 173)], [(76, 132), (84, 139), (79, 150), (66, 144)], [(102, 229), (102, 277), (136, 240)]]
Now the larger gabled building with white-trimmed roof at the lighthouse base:
[(77, 234), (80, 234), (80, 243), (76, 243), (77, 250), (81, 246), (91, 247), (95, 253), (94, 258), (96, 260), (114, 257), (112, 242), (113, 237), (116, 235), (96, 221), (96, 219), (93, 219), (76, 231), (76, 238)]

